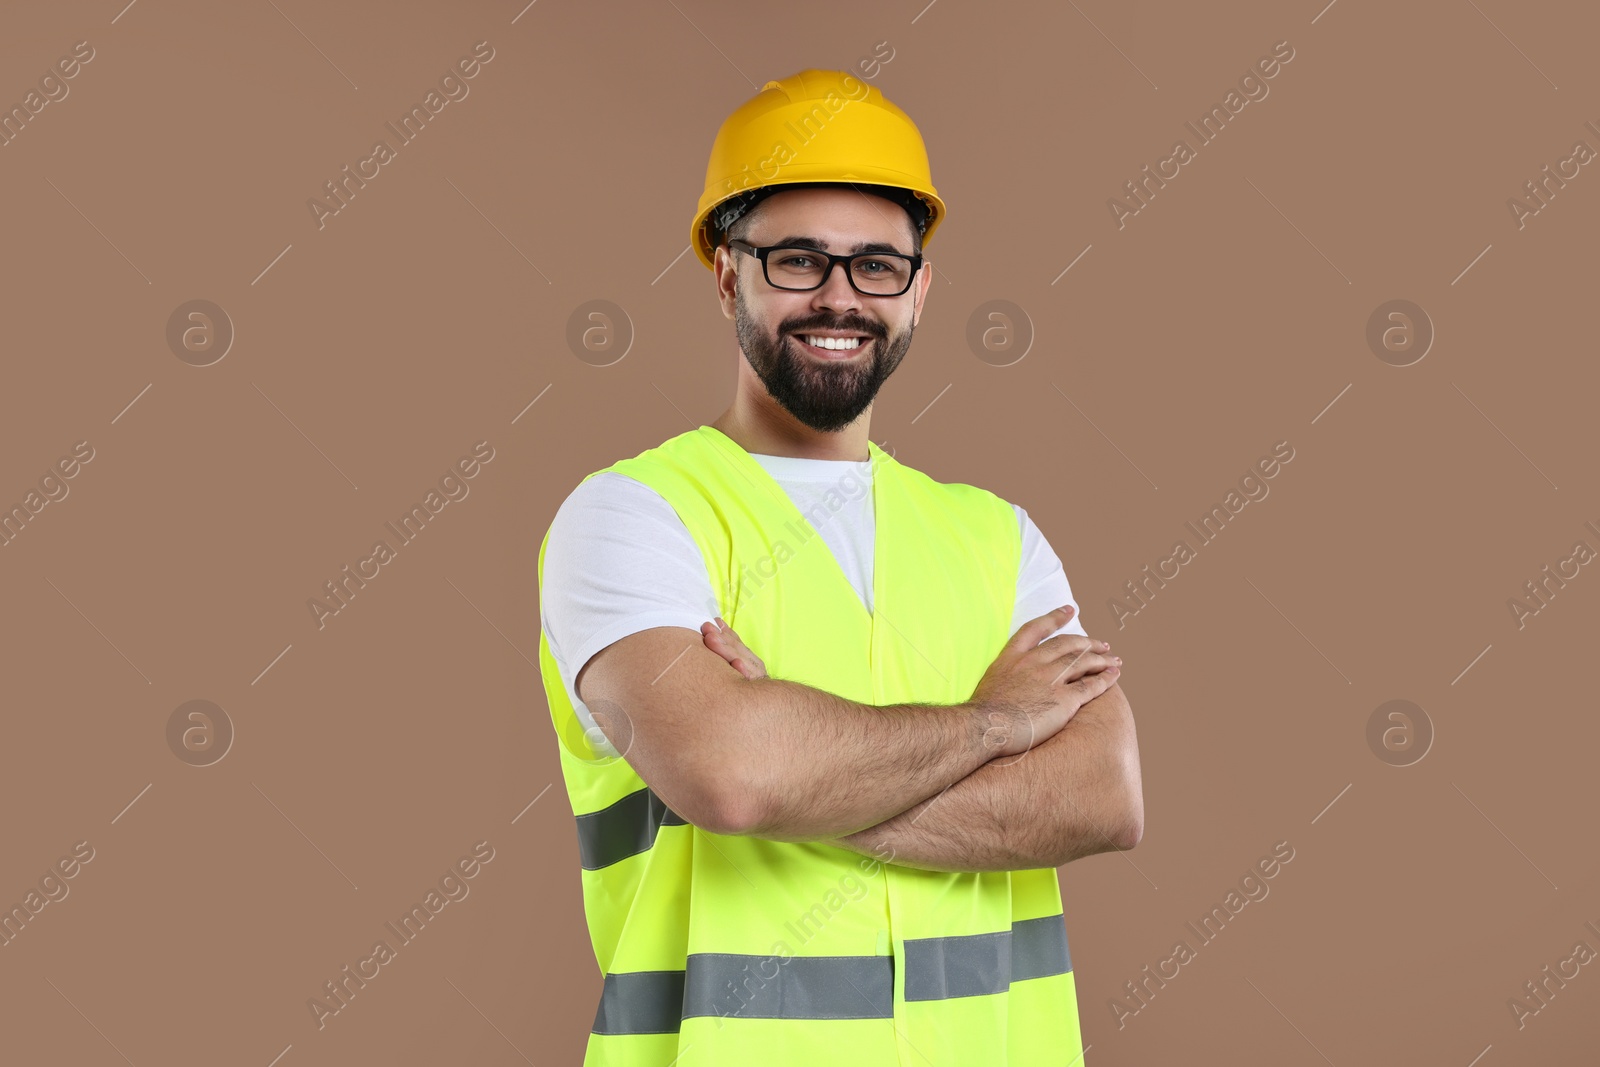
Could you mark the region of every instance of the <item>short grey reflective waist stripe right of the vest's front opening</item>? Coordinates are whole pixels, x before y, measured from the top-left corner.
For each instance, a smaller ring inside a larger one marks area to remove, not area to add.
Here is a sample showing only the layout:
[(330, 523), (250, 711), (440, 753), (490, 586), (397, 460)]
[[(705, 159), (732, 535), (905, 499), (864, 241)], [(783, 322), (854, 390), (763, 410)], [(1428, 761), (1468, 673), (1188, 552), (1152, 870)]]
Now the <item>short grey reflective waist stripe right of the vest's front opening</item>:
[(1070, 969), (1061, 915), (1026, 918), (992, 934), (906, 939), (906, 1000), (1003, 993), (1011, 982)]

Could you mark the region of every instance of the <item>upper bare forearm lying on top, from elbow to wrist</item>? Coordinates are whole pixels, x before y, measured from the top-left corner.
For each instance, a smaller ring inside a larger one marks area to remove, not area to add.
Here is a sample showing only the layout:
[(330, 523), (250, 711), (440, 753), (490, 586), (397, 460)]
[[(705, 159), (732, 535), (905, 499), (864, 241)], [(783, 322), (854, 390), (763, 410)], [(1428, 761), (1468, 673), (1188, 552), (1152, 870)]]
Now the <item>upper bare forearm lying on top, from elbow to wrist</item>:
[(834, 840), (893, 819), (981, 768), (976, 705), (856, 704), (797, 681), (742, 680), (718, 749), (738, 768), (734, 832)]

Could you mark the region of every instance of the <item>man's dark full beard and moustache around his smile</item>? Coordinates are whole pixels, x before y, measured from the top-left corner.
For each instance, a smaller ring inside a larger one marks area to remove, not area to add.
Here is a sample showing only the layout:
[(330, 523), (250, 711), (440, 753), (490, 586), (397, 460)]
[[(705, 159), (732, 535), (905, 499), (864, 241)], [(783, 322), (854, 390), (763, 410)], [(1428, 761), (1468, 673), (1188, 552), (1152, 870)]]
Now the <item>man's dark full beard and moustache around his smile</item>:
[[(746, 306), (742, 286), (734, 299), (734, 330), (744, 358), (773, 400), (819, 432), (842, 430), (861, 418), (906, 358), (912, 334), (909, 325), (891, 338), (883, 323), (858, 315), (835, 318), (827, 314), (792, 318), (768, 334)], [(794, 338), (811, 330), (864, 333), (872, 352), (864, 360), (824, 362), (805, 352)]]

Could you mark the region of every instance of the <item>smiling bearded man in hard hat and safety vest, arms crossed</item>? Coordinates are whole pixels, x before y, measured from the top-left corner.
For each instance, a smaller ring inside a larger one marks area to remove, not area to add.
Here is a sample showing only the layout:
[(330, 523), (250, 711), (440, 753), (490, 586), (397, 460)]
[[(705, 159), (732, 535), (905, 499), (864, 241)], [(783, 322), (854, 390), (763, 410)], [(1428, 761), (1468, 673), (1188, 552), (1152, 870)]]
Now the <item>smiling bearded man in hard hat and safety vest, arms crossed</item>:
[(1021, 507), (867, 437), (942, 218), (875, 88), (768, 82), (691, 229), (733, 405), (584, 478), (541, 545), (586, 1064), (1082, 1061), (1056, 867), (1142, 833), (1122, 661)]

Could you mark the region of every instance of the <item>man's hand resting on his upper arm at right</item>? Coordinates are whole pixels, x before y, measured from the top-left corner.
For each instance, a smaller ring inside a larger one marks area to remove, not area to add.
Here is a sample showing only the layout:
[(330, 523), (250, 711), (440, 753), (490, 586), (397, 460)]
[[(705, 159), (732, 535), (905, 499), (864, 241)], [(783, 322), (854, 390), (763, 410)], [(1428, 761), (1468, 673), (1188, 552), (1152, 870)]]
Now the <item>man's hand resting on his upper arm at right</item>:
[(1021, 755), (1053, 737), (1078, 709), (1117, 683), (1122, 659), (1110, 645), (1061, 629), (1075, 609), (1056, 608), (1006, 641), (973, 691), (971, 705), (995, 757)]

